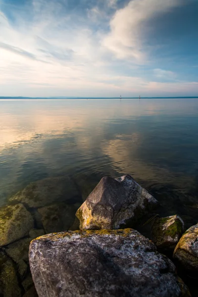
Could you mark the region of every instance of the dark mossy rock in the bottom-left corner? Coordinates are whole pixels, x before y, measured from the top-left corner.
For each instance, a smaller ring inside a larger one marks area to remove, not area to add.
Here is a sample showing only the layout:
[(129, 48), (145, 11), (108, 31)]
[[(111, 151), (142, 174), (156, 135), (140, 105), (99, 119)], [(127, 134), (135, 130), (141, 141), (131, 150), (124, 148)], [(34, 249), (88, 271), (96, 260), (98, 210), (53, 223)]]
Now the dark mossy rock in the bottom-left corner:
[(21, 297), (14, 262), (0, 251), (0, 296)]

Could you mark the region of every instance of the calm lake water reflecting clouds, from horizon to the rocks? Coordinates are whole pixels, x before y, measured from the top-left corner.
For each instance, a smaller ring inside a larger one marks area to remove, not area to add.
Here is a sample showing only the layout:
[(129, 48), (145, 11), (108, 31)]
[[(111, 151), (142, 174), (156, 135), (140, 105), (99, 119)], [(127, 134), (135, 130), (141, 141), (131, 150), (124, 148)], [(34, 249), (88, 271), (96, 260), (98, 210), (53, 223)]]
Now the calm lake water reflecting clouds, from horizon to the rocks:
[(198, 221), (198, 99), (0, 100), (0, 205), (30, 182), (131, 174)]

